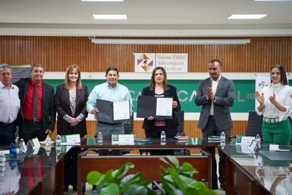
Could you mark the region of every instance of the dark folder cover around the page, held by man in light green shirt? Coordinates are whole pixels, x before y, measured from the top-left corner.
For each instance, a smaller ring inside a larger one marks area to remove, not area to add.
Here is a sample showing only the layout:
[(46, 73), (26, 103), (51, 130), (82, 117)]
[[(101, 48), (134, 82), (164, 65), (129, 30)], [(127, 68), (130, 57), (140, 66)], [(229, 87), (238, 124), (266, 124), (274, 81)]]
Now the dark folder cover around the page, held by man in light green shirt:
[(131, 121), (130, 100), (128, 101), (129, 101), (129, 110), (127, 112), (129, 112), (129, 118), (114, 121), (114, 102), (96, 99), (96, 107), (99, 111), (99, 113), (96, 114), (97, 121), (101, 121), (105, 123), (130, 122)]

